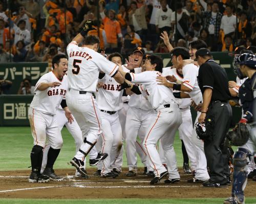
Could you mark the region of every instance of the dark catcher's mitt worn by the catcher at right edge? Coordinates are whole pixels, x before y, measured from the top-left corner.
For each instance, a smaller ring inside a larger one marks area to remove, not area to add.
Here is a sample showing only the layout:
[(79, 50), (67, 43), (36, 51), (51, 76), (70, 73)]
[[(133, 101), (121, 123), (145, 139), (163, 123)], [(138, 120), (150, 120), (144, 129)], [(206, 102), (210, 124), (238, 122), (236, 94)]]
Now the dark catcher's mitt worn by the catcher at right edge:
[(228, 131), (227, 139), (230, 145), (242, 146), (244, 145), (250, 137), (249, 125), (246, 123), (238, 123), (236, 127)]

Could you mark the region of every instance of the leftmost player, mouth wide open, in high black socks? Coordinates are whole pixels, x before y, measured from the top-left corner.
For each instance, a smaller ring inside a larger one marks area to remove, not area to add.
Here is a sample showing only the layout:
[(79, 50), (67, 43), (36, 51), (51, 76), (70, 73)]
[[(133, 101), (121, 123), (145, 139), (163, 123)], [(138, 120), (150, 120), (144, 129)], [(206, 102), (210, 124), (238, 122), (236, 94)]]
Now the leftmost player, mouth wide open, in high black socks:
[[(63, 143), (55, 115), (59, 105), (65, 110), (69, 122), (72, 123), (73, 121), (66, 100), (63, 100), (68, 89), (67, 76), (65, 75), (68, 69), (67, 57), (55, 55), (52, 59), (52, 68), (52, 72), (43, 75), (36, 83), (35, 96), (29, 108), (29, 122), (34, 138), (34, 146), (30, 154), (32, 172), (29, 182), (31, 183), (48, 182), (49, 176), (53, 180), (63, 179), (54, 173), (53, 165)], [(49, 140), (50, 149), (46, 169), (41, 174), (42, 149), (46, 145), (46, 138)]]

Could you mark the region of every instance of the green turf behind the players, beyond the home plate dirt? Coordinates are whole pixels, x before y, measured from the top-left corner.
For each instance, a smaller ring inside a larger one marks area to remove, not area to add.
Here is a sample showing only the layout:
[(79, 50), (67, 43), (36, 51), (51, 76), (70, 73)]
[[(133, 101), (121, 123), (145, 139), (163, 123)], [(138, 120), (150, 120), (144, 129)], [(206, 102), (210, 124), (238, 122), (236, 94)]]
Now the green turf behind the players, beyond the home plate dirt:
[[(54, 165), (55, 169), (73, 168), (68, 162), (75, 154), (75, 143), (67, 128), (62, 130), (63, 147)], [(30, 166), (30, 151), (33, 138), (30, 127), (0, 127), (0, 170), (24, 170)], [(177, 153), (178, 166), (182, 166), (181, 142), (176, 135), (174, 148)], [(89, 166), (89, 165), (87, 165)], [(123, 153), (123, 167), (126, 167), (125, 151)], [(143, 166), (138, 160), (138, 166)]]

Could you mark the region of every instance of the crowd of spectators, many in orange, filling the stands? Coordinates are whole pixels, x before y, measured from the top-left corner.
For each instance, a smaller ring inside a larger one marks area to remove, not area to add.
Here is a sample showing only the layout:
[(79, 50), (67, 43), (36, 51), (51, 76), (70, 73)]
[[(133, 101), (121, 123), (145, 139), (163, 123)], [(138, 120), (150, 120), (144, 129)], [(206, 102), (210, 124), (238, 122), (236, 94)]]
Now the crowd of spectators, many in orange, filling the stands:
[(0, 62), (50, 63), (89, 18), (98, 27), (89, 35), (99, 36), (106, 53), (130, 54), (137, 46), (168, 53), (163, 31), (174, 46), (195, 39), (211, 51), (255, 46), (256, 0), (2, 0)]

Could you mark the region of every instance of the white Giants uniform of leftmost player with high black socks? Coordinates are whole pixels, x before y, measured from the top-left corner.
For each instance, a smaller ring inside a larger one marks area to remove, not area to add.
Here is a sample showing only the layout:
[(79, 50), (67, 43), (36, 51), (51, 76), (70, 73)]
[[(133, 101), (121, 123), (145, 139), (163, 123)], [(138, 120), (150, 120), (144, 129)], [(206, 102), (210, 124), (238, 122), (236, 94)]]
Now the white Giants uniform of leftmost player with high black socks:
[[(38, 90), (40, 83), (59, 81), (61, 85)], [(46, 137), (53, 149), (62, 147), (62, 137), (57, 123), (56, 111), (68, 89), (65, 75), (60, 81), (53, 72), (43, 75), (35, 86), (35, 96), (29, 108), (29, 122), (34, 138), (34, 145), (46, 146)]]

